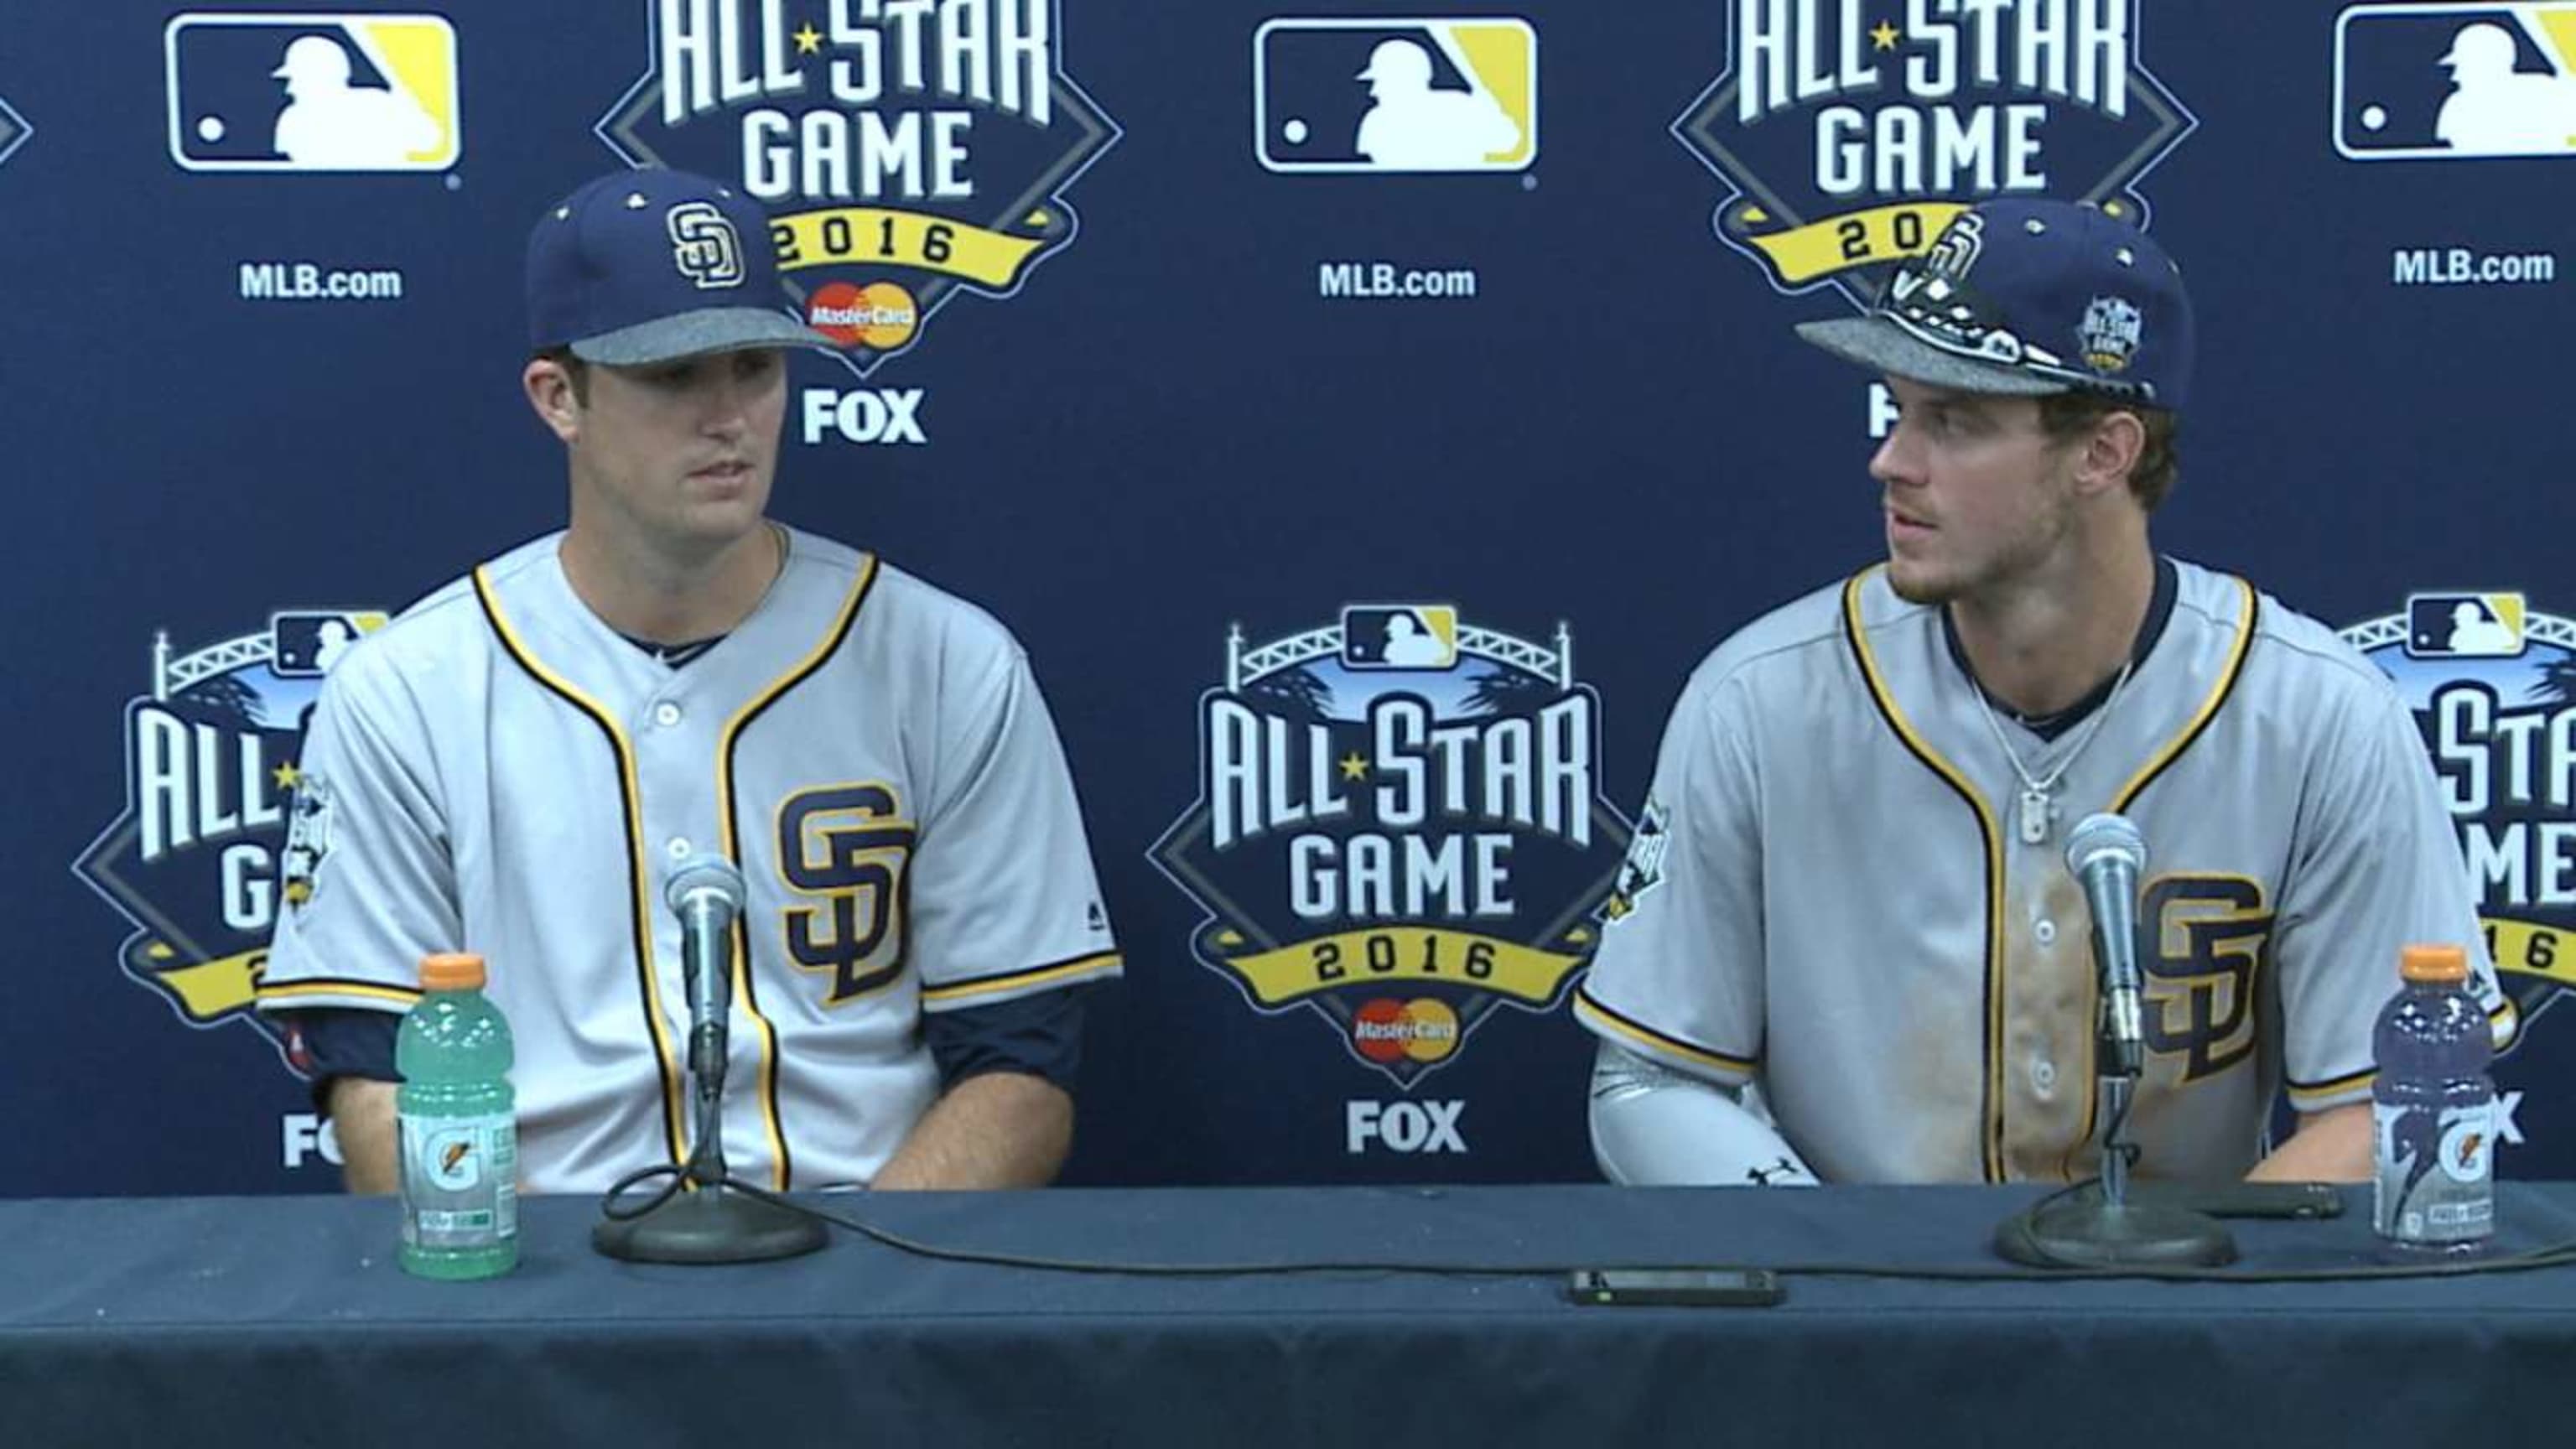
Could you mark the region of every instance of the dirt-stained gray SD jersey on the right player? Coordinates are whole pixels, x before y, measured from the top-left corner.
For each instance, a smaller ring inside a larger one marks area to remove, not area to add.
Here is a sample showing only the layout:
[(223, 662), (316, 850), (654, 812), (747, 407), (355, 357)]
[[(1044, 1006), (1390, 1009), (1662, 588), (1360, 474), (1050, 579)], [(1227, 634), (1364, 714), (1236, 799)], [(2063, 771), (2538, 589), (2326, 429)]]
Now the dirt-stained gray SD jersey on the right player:
[(2370, 1093), (2398, 946), (2470, 946), (2514, 1029), (2432, 763), (2391, 683), (2324, 624), (2177, 565), (2164, 634), (2087, 740), (2014, 722), (2022, 779), (1886, 570), (1723, 642), (1672, 714), (1577, 1016), (1726, 1085), (1762, 1078), (1826, 1181), (2097, 1168), (2092, 915), (2061, 859), (2117, 810), (2148, 841), (2141, 1176), (2236, 1178), (2275, 1093)]

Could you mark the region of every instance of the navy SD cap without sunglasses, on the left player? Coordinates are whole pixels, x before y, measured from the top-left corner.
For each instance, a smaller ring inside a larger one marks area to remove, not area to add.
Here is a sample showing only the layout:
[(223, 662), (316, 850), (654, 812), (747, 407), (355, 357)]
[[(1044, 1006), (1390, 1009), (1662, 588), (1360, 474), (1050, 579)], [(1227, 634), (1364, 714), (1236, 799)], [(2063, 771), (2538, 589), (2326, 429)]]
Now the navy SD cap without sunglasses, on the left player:
[(533, 351), (641, 366), (744, 348), (829, 348), (778, 307), (770, 219), (685, 170), (618, 170), (528, 232)]

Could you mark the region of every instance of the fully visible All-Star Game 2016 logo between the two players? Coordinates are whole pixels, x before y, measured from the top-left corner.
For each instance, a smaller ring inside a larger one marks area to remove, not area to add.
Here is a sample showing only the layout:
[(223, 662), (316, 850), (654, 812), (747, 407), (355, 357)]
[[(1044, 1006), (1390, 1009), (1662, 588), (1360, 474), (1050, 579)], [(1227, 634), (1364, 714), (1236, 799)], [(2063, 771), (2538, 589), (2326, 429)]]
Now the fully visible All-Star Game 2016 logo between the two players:
[(1200, 962), (1309, 1008), (1399, 1085), (1512, 1003), (1556, 1006), (1628, 848), (1600, 696), (1553, 645), (1430, 603), (1247, 647), (1200, 699), (1200, 799), (1151, 859), (1206, 908)]

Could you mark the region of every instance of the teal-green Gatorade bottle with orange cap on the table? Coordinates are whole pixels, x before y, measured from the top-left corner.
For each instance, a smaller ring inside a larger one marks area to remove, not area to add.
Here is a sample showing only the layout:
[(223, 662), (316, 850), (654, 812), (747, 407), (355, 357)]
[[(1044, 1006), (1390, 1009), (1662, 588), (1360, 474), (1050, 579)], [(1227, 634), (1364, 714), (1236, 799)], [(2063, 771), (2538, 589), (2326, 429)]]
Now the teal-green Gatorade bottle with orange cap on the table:
[(482, 993), (474, 954), (420, 962), (402, 1018), (402, 1266), (425, 1279), (489, 1279), (518, 1263), (518, 1093), (510, 1024)]

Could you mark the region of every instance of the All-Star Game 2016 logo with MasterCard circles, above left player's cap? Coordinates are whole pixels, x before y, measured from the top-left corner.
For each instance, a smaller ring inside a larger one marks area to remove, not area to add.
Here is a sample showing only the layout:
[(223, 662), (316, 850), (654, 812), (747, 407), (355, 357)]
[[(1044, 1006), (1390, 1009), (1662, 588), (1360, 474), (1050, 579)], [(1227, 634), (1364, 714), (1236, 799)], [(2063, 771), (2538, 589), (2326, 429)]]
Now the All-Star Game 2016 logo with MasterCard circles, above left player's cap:
[(1064, 70), (1059, 0), (647, 0), (649, 64), (600, 116), (626, 165), (729, 175), (770, 211), (788, 304), (850, 371), (961, 291), (1015, 297), (1121, 129)]

